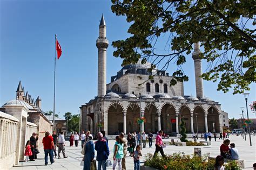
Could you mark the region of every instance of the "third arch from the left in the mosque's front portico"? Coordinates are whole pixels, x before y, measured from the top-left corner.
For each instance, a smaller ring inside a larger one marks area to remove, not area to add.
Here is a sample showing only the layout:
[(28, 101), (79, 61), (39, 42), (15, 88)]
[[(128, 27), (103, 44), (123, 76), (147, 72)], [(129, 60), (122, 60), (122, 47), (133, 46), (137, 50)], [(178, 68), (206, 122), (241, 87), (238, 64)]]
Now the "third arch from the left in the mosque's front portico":
[(148, 104), (144, 109), (144, 131), (146, 133), (156, 133), (158, 131), (158, 109), (154, 104)]

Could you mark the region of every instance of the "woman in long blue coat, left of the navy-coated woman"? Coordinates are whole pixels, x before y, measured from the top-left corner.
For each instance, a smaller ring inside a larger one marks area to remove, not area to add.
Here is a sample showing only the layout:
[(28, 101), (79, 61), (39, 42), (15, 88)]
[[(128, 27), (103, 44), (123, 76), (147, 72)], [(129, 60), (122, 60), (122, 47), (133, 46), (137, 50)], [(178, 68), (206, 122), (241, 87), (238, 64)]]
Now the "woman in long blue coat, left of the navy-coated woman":
[(90, 170), (90, 165), (95, 155), (92, 136), (87, 137), (85, 147), (86, 148), (85, 148), (85, 154), (84, 154), (84, 170)]

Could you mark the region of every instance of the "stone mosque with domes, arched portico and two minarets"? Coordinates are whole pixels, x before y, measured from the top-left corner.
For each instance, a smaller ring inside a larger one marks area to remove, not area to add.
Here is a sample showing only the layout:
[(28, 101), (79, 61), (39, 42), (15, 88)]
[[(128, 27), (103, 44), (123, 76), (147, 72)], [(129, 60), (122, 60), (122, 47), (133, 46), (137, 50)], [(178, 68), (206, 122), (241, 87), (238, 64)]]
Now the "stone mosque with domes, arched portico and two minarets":
[[(221, 132), (223, 131), (223, 115), (221, 105), (204, 96), (201, 75), (201, 59), (199, 43), (194, 44), (192, 58), (196, 78), (197, 96), (184, 94), (183, 82), (170, 86), (173, 78), (166, 71), (155, 69), (148, 72), (151, 63), (130, 64), (121, 68), (117, 75), (111, 76), (106, 84), (106, 50), (109, 41), (106, 39), (104, 17), (99, 24), (98, 48), (98, 95), (80, 107), (82, 116), (81, 130), (90, 130), (96, 134), (105, 130), (107, 135), (119, 132), (139, 131), (136, 118), (142, 116), (146, 122), (142, 131), (176, 135), (180, 132), (181, 118), (186, 124), (187, 133)], [(149, 75), (154, 80), (148, 80)], [(145, 82), (145, 83), (143, 83)], [(143, 83), (142, 86), (138, 84)], [(226, 114), (227, 117), (227, 114)]]

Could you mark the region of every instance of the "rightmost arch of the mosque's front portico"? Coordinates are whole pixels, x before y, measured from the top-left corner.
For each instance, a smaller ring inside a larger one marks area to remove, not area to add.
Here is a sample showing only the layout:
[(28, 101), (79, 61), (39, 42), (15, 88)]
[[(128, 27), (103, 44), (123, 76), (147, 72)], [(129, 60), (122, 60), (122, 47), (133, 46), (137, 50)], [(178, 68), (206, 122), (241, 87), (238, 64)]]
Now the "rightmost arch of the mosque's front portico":
[(207, 109), (207, 125), (209, 132), (220, 132), (219, 111), (212, 106)]

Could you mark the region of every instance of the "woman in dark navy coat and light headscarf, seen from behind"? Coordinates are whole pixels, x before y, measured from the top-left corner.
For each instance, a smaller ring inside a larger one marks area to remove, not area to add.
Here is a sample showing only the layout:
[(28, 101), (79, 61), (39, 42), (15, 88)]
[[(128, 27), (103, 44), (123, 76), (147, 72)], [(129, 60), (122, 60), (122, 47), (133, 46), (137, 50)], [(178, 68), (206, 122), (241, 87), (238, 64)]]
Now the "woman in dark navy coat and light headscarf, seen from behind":
[(95, 143), (95, 150), (97, 151), (98, 170), (101, 168), (106, 170), (106, 160), (109, 158), (109, 146), (104, 139), (101, 132), (98, 133), (98, 140)]

